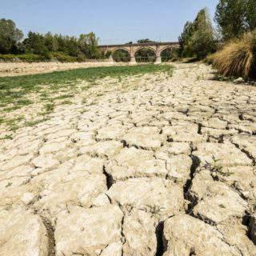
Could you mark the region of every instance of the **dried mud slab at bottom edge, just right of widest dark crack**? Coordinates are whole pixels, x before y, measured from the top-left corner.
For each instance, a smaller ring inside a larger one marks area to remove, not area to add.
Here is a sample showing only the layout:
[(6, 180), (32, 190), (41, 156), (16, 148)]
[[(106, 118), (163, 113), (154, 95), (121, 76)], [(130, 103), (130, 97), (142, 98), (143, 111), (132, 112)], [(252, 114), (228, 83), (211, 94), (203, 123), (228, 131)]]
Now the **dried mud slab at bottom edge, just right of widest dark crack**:
[(166, 241), (163, 256), (241, 256), (238, 249), (225, 242), (221, 232), (186, 214), (164, 222), (163, 238)]

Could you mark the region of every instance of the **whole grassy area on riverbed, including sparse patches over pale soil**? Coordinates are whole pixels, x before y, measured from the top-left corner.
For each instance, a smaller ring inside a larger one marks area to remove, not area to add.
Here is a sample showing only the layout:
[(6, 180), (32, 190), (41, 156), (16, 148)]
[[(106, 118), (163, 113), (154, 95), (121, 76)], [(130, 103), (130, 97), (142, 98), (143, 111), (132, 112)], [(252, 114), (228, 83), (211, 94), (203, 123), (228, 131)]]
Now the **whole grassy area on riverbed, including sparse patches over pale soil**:
[[(138, 66), (109, 66), (91, 67), (86, 69), (55, 71), (49, 74), (32, 74), (16, 77), (0, 78), (0, 125), (15, 131), (19, 126), (35, 126), (39, 122), (47, 120), (47, 116), (54, 111), (58, 105), (72, 104), (72, 98), (76, 94), (98, 86), (98, 79), (114, 78), (118, 83), (123, 78), (130, 76), (142, 76), (143, 74), (154, 74), (164, 72), (167, 76), (172, 75), (173, 67), (170, 65), (138, 65)], [(105, 83), (103, 81), (103, 83)], [(111, 86), (111, 84), (110, 84)], [(129, 86), (129, 85), (128, 85)], [(130, 87), (132, 89), (132, 87)], [(101, 97), (103, 92), (99, 91), (96, 96)], [(87, 98), (82, 100), (86, 103)], [(32, 105), (33, 104), (33, 105)], [(36, 105), (38, 104), (38, 105)], [(95, 104), (95, 103), (91, 103)], [(38, 106), (38, 107), (37, 107)], [(38, 113), (34, 121), (26, 121), (15, 110), (22, 109)], [(43, 118), (40, 118), (43, 117)]]

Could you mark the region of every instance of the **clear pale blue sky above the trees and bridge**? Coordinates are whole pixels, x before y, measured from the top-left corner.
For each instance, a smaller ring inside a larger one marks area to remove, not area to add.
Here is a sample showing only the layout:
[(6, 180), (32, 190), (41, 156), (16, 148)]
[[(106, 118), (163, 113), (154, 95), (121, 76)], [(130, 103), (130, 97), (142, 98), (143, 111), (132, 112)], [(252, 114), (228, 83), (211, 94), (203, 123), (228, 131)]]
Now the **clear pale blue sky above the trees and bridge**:
[(207, 7), (214, 16), (218, 0), (0, 0), (0, 18), (19, 29), (78, 34), (94, 31), (101, 44), (141, 38), (177, 41), (187, 20)]

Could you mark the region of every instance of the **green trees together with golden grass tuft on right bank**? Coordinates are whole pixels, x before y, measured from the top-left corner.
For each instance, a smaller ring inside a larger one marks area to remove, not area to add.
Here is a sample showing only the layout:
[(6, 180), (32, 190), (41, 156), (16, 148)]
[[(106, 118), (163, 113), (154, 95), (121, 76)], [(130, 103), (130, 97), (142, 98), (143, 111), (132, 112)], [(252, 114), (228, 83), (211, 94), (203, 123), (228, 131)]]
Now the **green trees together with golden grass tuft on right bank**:
[(194, 22), (186, 22), (179, 37), (180, 56), (205, 58), (221, 79), (255, 79), (256, 1), (219, 0), (214, 20), (218, 31), (214, 31), (206, 9), (199, 11)]

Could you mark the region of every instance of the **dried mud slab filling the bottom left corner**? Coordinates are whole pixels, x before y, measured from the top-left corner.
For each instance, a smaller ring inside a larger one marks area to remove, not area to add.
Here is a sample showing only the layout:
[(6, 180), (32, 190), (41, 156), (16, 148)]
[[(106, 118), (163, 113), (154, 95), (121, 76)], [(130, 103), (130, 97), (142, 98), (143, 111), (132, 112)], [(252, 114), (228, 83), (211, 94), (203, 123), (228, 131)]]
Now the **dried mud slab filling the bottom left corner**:
[(0, 254), (48, 256), (49, 238), (42, 219), (28, 210), (0, 211)]

